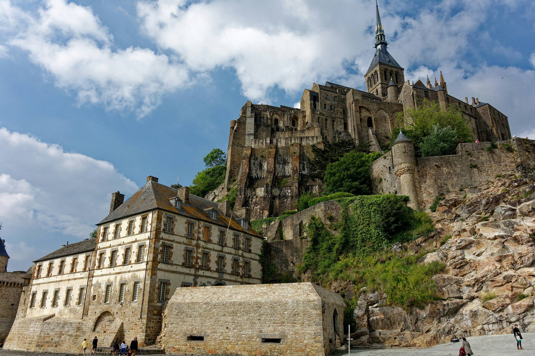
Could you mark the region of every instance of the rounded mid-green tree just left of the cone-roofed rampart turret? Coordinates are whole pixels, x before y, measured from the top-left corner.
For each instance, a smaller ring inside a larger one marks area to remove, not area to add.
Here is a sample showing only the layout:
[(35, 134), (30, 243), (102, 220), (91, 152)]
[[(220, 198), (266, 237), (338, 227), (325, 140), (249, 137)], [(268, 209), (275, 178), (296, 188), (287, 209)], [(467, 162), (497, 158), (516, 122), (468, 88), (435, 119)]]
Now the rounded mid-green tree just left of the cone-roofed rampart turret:
[(325, 194), (346, 192), (355, 195), (371, 194), (370, 164), (380, 153), (365, 154), (351, 151), (325, 171)]

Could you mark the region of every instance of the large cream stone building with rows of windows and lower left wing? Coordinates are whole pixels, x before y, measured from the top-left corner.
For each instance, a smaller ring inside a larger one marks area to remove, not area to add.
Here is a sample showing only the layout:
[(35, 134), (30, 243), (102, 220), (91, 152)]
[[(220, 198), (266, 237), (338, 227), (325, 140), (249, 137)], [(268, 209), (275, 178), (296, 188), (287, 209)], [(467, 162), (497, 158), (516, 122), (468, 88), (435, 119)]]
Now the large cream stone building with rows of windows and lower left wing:
[(126, 201), (113, 193), (96, 239), (34, 262), (6, 349), (72, 352), (93, 335), (151, 344), (177, 288), (261, 283), (263, 238), (241, 213), (152, 176)]

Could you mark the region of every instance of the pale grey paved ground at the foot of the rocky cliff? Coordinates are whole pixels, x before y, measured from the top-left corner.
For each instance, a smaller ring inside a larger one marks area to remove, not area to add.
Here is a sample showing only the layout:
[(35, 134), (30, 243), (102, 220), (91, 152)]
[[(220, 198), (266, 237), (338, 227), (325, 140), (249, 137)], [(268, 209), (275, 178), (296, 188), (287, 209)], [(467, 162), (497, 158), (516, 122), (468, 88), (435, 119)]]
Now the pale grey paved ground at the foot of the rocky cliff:
[[(522, 347), (516, 349), (516, 341), (511, 335), (485, 335), (467, 337), (474, 355), (479, 356), (507, 356), (507, 355), (533, 355), (535, 353), (535, 333), (523, 333)], [(400, 349), (357, 349), (351, 350), (351, 355), (357, 356), (458, 356), (461, 343), (441, 344), (427, 349), (415, 347)], [(338, 350), (336, 356), (347, 355), (347, 350)]]

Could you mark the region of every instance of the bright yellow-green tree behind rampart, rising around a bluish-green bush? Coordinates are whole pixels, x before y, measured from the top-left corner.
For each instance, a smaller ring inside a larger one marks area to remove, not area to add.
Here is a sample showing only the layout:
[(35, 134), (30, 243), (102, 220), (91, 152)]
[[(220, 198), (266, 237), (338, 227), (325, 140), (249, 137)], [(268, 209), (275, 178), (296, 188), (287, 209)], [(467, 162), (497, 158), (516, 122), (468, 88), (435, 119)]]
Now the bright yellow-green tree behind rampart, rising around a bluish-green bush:
[[(450, 126), (457, 133), (457, 144), (473, 141), (458, 105), (448, 105), (446, 110), (442, 110), (438, 102), (422, 100), (418, 102), (417, 107), (399, 113), (398, 122), (403, 126), (403, 133), (414, 142), (418, 156), (423, 156), (422, 144), (424, 138), (431, 135), (433, 125), (438, 125), (439, 128)], [(390, 145), (396, 137), (397, 135), (392, 137)]]

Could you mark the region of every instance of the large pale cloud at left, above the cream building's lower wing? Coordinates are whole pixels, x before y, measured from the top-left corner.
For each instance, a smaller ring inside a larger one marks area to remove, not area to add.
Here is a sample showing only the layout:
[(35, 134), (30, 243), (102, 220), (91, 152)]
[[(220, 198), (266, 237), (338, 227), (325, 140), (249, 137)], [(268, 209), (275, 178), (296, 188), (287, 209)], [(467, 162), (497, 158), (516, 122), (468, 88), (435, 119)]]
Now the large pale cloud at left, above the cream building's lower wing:
[(36, 248), (34, 255), (10, 262), (17, 269), (26, 269), (30, 258), (48, 254), (66, 239), (86, 238), (108, 214), (112, 192), (128, 196), (137, 189), (109, 162), (5, 128), (0, 129), (0, 152), (2, 238)]

